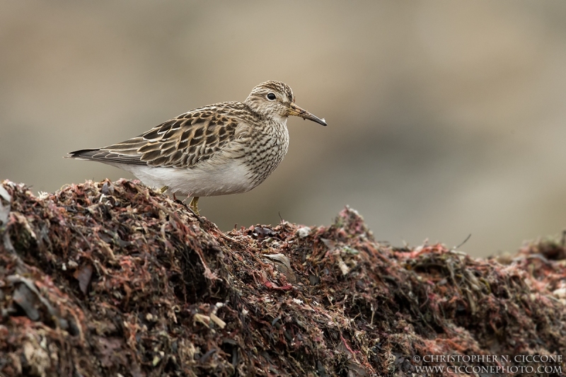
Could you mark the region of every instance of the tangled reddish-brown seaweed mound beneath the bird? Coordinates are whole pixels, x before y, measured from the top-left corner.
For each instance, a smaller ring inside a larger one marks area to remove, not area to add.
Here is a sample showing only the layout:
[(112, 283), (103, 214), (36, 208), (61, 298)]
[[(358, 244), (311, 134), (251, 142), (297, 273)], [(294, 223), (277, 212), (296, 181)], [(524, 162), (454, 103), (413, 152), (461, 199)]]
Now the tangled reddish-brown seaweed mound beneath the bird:
[(5, 180), (0, 376), (560, 376), (565, 252), (393, 248), (349, 208), (223, 233), (136, 181)]

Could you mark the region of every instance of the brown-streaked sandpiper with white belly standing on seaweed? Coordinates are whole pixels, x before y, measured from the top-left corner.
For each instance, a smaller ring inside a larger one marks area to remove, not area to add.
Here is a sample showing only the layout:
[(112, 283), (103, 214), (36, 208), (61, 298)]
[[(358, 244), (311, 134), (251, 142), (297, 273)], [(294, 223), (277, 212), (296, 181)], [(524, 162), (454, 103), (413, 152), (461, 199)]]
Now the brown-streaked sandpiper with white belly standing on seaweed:
[(199, 197), (247, 192), (277, 168), (289, 146), (289, 115), (326, 125), (295, 105), (287, 84), (266, 81), (243, 102), (190, 110), (138, 137), (67, 157), (108, 163), (146, 185), (192, 197), (198, 214)]

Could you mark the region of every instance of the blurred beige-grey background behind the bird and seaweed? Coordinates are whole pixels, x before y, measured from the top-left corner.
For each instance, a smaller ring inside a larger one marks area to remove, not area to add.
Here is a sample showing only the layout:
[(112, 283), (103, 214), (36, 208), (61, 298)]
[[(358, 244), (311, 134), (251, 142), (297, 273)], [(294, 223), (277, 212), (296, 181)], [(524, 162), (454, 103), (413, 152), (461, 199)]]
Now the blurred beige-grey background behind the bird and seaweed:
[(291, 118), (275, 173), (202, 198), (229, 230), (330, 224), (345, 204), (393, 245), (514, 252), (566, 227), (565, 1), (0, 1), (0, 179), (53, 192), (132, 178), (68, 151), (244, 100)]

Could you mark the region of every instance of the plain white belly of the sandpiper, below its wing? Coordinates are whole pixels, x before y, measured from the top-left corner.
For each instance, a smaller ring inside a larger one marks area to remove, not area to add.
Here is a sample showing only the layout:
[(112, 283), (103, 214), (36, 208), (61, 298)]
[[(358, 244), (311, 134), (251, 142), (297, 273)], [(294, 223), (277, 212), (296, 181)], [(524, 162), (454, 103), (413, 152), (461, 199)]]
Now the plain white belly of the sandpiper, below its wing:
[(168, 187), (168, 192), (190, 197), (212, 197), (246, 192), (257, 186), (248, 177), (250, 171), (241, 160), (223, 164), (202, 161), (188, 168), (158, 168), (154, 166), (115, 164), (127, 170), (141, 182), (154, 188)]

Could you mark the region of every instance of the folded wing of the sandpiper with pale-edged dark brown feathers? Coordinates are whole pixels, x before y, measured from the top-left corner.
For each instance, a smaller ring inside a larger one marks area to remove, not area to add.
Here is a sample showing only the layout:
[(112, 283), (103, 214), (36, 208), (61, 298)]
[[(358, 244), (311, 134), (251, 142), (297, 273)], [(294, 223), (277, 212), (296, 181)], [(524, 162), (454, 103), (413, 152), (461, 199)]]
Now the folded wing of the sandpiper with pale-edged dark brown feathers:
[(138, 137), (100, 149), (74, 151), (69, 157), (110, 164), (190, 168), (211, 158), (236, 138), (244, 107), (243, 103), (235, 102), (197, 108)]

